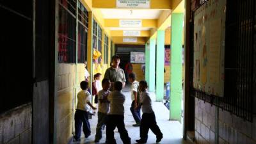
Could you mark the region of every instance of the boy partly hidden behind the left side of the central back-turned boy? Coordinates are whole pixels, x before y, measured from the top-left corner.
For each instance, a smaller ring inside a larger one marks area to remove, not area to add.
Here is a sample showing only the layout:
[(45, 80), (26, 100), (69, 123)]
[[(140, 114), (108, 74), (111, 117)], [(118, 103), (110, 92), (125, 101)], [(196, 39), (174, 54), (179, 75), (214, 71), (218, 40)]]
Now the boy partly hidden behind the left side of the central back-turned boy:
[(102, 138), (102, 128), (103, 125), (106, 124), (106, 117), (108, 115), (109, 111), (109, 101), (108, 101), (108, 95), (110, 93), (109, 88), (111, 86), (111, 83), (109, 79), (103, 79), (102, 80), (102, 88), (103, 90), (100, 90), (98, 93), (98, 99), (99, 99), (99, 105), (98, 105), (98, 124), (96, 128), (96, 135), (95, 135), (95, 143), (99, 142)]

